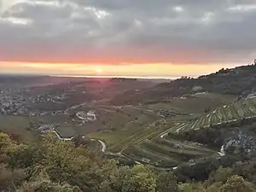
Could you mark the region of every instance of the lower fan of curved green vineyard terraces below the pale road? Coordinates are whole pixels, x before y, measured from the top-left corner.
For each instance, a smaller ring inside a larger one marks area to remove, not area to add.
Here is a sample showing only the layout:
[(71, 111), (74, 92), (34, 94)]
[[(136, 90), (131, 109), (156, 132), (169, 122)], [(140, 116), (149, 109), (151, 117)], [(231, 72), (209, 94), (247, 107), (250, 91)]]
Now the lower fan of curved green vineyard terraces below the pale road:
[[(173, 129), (182, 124), (173, 125)], [(126, 157), (141, 163), (154, 166), (173, 167), (191, 159), (197, 159), (216, 153), (197, 143), (181, 142), (170, 137), (160, 137), (143, 140), (130, 145), (122, 152)]]

